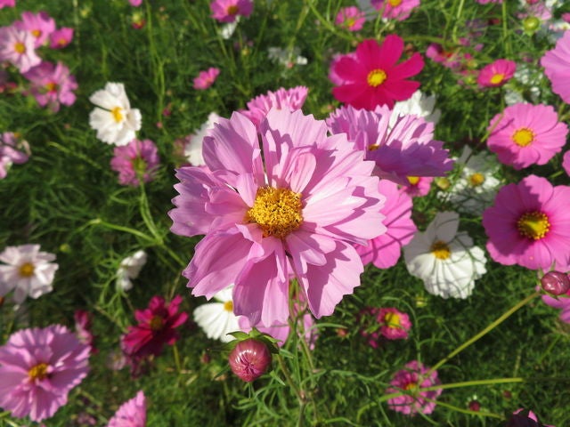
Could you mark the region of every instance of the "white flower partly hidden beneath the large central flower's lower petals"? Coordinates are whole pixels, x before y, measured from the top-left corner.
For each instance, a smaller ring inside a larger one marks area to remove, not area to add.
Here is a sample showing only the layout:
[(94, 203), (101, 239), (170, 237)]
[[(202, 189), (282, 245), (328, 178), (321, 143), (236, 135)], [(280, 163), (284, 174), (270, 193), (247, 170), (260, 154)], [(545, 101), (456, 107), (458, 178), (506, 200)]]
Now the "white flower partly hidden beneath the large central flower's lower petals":
[(240, 331), (238, 317), (233, 314), (233, 285), (214, 295), (217, 302), (202, 304), (194, 310), (194, 321), (208, 338), (230, 342), (234, 338), (230, 332)]

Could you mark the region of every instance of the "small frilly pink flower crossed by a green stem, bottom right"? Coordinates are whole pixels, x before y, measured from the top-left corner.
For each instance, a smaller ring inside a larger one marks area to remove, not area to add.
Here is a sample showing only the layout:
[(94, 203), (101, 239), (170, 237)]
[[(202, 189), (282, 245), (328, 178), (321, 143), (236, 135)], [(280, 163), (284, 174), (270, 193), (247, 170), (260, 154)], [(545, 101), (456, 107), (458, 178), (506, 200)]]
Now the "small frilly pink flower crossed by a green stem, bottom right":
[[(442, 389), (434, 391), (419, 391), (419, 388), (431, 387), (441, 382), (437, 378), (437, 372), (429, 373), (429, 368), (424, 367), (418, 360), (412, 360), (405, 367), (395, 373), (391, 387), (386, 393), (405, 391), (406, 394), (397, 398), (388, 399), (388, 407), (404, 415), (416, 415), (418, 413), (431, 414), (436, 408), (437, 397), (442, 394)], [(429, 401), (428, 401), (429, 399)]]

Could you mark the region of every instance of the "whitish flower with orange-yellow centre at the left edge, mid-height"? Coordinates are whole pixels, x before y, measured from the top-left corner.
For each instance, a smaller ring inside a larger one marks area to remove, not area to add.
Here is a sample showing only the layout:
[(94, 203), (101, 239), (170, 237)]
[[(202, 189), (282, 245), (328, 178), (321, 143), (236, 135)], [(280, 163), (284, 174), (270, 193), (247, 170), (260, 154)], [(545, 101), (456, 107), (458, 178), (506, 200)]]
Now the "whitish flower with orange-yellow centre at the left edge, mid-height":
[(52, 292), (53, 277), (59, 265), (54, 254), (39, 251), (39, 245), (7, 246), (0, 253), (0, 295), (14, 290), (13, 300), (24, 302), (26, 296), (37, 298)]

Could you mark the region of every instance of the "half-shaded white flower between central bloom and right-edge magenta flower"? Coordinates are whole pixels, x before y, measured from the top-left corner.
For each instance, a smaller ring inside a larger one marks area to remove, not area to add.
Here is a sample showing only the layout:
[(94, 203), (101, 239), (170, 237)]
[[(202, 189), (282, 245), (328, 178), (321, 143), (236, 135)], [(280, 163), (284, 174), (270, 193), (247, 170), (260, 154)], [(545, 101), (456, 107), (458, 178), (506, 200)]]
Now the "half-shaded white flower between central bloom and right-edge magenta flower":
[(486, 272), (485, 253), (466, 232), (457, 231), (459, 223), (459, 214), (440, 212), (403, 247), (408, 271), (424, 281), (430, 294), (467, 298)]

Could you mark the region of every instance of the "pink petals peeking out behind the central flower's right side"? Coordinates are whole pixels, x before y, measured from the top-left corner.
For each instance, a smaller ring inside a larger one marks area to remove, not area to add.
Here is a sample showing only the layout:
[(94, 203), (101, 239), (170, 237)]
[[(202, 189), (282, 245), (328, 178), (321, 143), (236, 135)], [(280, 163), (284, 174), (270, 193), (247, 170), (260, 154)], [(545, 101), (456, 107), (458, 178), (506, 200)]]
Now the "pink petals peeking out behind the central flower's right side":
[(411, 221), (411, 197), (398, 190), (391, 181), (380, 180), (379, 193), (386, 196), (386, 204), (380, 213), (386, 216), (383, 221), (385, 234), (368, 241), (367, 246), (355, 246), (364, 265), (373, 262), (379, 269), (395, 266), (400, 258), (402, 246), (410, 242), (418, 230)]

